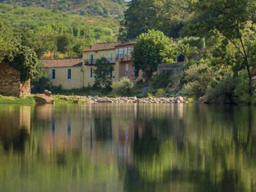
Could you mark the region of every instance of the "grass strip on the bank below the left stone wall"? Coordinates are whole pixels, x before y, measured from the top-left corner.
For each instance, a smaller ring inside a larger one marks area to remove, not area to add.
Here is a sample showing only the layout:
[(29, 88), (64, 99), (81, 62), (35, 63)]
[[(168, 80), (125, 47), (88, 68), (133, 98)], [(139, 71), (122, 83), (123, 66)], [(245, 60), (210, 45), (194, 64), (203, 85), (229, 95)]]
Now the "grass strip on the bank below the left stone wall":
[(21, 98), (16, 98), (13, 96), (1, 96), (0, 95), (0, 104), (26, 104), (26, 105), (34, 105), (36, 104), (33, 96), (24, 96)]

